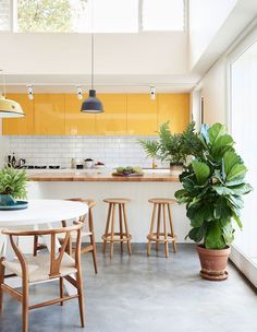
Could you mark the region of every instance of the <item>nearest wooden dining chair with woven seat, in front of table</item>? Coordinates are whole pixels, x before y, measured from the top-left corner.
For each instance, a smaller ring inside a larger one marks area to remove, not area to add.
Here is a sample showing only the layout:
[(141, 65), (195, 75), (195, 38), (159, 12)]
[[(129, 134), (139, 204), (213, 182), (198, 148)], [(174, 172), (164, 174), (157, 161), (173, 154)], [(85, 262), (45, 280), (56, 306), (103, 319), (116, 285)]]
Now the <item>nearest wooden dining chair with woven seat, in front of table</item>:
[[(0, 259), (0, 312), (2, 312), (3, 292), (8, 293), (9, 295), (21, 301), (23, 332), (28, 331), (28, 310), (56, 304), (63, 305), (64, 301), (73, 298), (78, 298), (81, 323), (82, 327), (85, 327), (85, 306), (81, 268), (82, 227), (82, 223), (75, 222), (73, 226), (66, 228), (56, 228), (46, 230), (2, 230), (2, 234), (5, 234), (10, 237), (10, 241), (15, 252), (16, 259), (14, 261), (9, 261), (3, 257)], [(75, 259), (73, 259), (65, 252), (65, 248), (70, 239), (71, 233), (76, 233)], [(58, 250), (57, 236), (59, 234), (65, 234), (65, 238), (62, 246)], [(37, 257), (25, 257), (14, 239), (14, 237), (20, 236), (50, 236), (50, 254), (40, 253)], [(5, 268), (22, 278), (22, 293), (4, 284)], [(73, 274), (76, 275), (75, 278), (73, 277)], [(59, 278), (60, 281), (60, 298), (51, 299), (33, 306), (28, 305), (29, 284), (48, 282), (50, 280), (57, 278)], [(75, 295), (64, 296), (63, 280), (66, 280), (77, 289), (77, 293)]]

